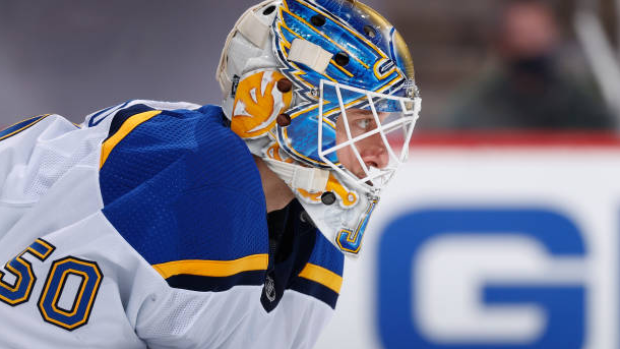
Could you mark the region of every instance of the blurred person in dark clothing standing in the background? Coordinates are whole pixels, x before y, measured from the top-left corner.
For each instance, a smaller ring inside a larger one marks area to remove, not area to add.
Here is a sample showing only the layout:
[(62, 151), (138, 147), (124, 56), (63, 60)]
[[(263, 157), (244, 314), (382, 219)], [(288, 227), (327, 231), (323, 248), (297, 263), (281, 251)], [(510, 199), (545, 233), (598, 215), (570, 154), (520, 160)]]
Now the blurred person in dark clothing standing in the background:
[(447, 125), (457, 129), (604, 130), (614, 119), (595, 85), (562, 62), (562, 30), (536, 0), (506, 3), (493, 22), (493, 63), (461, 87)]

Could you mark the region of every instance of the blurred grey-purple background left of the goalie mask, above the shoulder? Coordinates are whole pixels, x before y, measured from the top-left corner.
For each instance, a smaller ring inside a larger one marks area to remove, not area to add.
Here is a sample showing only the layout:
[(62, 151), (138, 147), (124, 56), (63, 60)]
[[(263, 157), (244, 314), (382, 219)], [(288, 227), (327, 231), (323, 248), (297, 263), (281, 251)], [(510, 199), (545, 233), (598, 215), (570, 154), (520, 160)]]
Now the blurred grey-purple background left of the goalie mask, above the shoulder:
[(0, 126), (136, 98), (218, 103), (221, 47), (257, 3), (0, 0)]

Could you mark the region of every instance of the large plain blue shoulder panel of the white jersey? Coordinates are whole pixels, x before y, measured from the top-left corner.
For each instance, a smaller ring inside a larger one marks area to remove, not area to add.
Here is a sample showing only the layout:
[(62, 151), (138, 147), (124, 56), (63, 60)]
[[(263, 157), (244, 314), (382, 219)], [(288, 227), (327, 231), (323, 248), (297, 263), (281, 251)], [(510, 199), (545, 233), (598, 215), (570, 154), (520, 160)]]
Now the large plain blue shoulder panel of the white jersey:
[(150, 264), (268, 253), (260, 175), (224, 120), (214, 106), (163, 111), (101, 169), (103, 213)]

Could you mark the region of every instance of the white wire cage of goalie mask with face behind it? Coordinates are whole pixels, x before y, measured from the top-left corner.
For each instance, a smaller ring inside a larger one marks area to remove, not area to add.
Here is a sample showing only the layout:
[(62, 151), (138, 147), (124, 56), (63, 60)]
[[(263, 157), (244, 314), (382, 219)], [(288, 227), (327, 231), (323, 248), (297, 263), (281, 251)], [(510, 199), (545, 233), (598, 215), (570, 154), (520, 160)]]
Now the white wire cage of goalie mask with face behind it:
[(349, 184), (378, 196), (407, 160), (419, 98), (327, 81), (320, 92), (320, 159)]

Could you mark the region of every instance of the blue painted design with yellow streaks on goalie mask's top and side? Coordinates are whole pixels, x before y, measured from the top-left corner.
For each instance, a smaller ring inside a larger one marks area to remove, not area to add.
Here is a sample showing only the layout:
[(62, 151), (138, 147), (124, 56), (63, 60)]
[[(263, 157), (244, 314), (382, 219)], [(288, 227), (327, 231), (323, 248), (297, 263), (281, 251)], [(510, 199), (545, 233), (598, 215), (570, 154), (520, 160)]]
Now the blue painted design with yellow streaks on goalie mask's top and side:
[[(328, 167), (318, 153), (321, 80), (396, 97), (413, 98), (417, 93), (407, 45), (387, 20), (366, 5), (349, 0), (283, 0), (273, 31), (273, 47), (283, 66), (281, 71), (295, 83), (301, 99), (289, 111), (292, 124), (278, 127), (277, 136), (282, 147), (298, 161)], [(324, 73), (288, 60), (290, 47), (298, 38), (334, 55)], [(340, 57), (336, 58), (337, 55)], [(365, 95), (340, 91), (347, 109), (369, 109)], [(328, 149), (336, 145), (336, 120), (341, 109), (336, 88), (322, 92), (322, 148)], [(376, 108), (402, 112), (400, 102), (389, 100), (377, 102)], [(336, 153), (327, 157), (338, 164)]]

